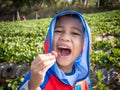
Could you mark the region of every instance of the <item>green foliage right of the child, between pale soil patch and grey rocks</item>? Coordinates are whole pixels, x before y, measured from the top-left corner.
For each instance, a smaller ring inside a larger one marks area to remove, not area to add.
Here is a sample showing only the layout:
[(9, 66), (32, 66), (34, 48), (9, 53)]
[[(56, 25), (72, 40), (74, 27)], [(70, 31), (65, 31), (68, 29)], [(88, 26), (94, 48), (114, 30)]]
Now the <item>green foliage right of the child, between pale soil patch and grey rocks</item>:
[(91, 52), (91, 62), (100, 63), (104, 67), (111, 65), (120, 68), (120, 39), (103, 40), (93, 42), (93, 51)]

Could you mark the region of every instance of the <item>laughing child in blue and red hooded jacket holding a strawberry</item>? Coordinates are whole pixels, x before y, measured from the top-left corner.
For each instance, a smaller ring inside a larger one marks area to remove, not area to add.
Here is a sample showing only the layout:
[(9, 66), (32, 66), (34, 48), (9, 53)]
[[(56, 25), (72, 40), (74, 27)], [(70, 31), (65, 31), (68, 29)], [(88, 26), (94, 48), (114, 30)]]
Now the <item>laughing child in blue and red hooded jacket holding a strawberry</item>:
[(88, 78), (90, 31), (79, 12), (67, 10), (53, 18), (44, 48), (45, 54), (31, 63), (31, 72), (18, 90), (92, 89)]

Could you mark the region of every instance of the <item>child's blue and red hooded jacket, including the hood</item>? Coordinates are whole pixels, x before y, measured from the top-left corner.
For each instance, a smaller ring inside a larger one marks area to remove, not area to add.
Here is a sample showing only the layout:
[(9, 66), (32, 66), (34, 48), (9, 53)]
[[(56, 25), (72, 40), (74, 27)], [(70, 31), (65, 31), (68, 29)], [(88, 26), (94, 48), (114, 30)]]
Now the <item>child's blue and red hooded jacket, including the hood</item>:
[[(90, 80), (88, 78), (89, 71), (90, 71), (89, 55), (90, 55), (90, 45), (91, 45), (91, 40), (90, 40), (91, 34), (90, 34), (90, 29), (88, 27), (88, 24), (85, 21), (81, 13), (77, 11), (73, 11), (73, 10), (67, 10), (54, 16), (54, 18), (52, 19), (50, 23), (50, 27), (49, 27), (49, 30), (48, 30), (48, 33), (47, 33), (47, 36), (44, 42), (44, 50), (45, 50), (45, 53), (50, 53), (53, 50), (52, 43), (53, 43), (53, 34), (54, 34), (56, 20), (58, 17), (66, 15), (66, 14), (78, 15), (84, 27), (84, 47), (83, 47), (82, 55), (78, 56), (74, 62), (75, 74), (76, 74), (76, 78), (74, 80), (75, 83), (73, 86), (71, 86), (69, 83), (69, 80), (66, 78), (66, 74), (61, 69), (59, 69), (59, 67), (55, 63), (46, 72), (44, 82), (42, 85), (40, 85), (40, 88), (42, 90), (48, 90), (48, 88), (49, 90), (60, 90), (60, 89), (83, 90), (83, 87), (81, 87), (80, 85), (76, 85), (76, 83), (84, 82), (84, 87), (88, 88), (88, 89), (84, 88), (84, 90), (91, 90)], [(24, 85), (24, 83), (30, 79), (30, 76), (31, 76), (30, 73), (27, 74), (21, 86)], [(60, 89), (58, 89), (57, 86), (58, 87), (61, 86)]]

